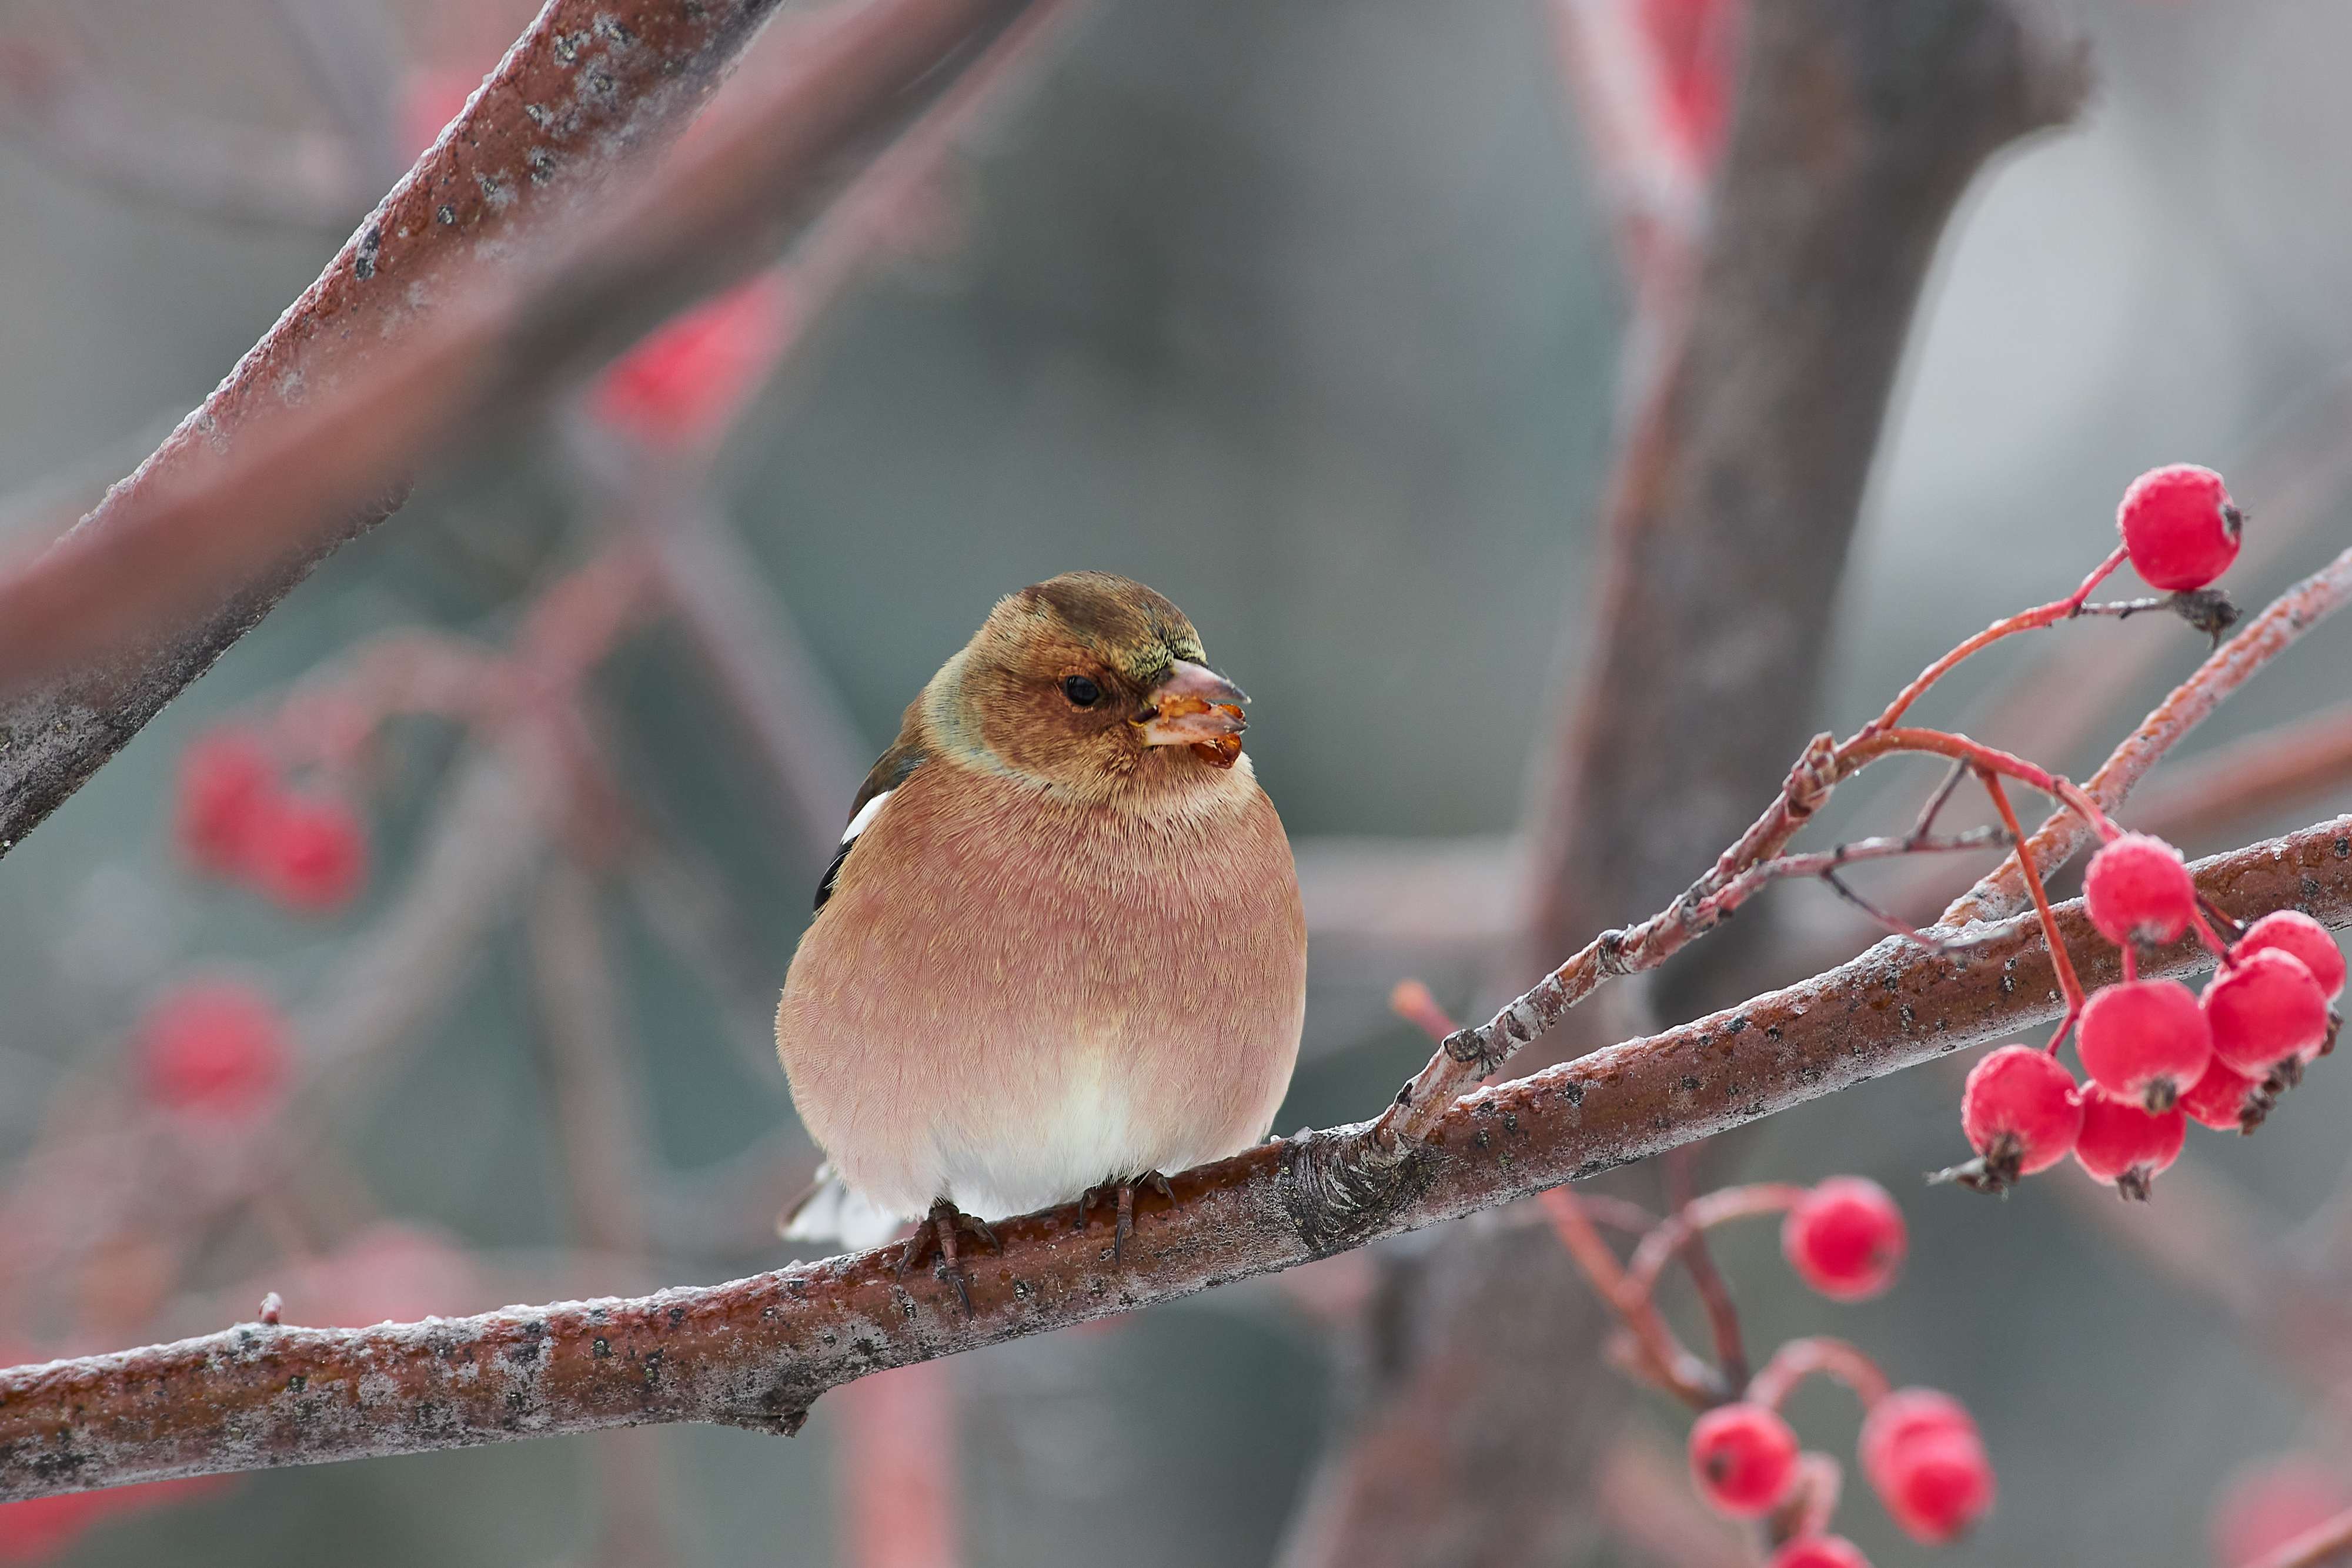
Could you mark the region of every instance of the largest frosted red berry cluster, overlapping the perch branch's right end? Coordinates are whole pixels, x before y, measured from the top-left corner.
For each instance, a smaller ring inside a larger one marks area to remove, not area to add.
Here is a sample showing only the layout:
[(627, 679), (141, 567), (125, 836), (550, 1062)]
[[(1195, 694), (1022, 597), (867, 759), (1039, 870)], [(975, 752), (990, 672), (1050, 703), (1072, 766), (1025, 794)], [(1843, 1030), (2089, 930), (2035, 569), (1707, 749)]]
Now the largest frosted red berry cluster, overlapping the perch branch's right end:
[[(2126, 957), (2192, 926), (2211, 940), (2180, 851), (2147, 835), (2126, 832), (2093, 856), (2084, 900)], [(2336, 938), (2298, 910), (2265, 914), (2223, 945), (2201, 997), (2178, 980), (2100, 987), (2074, 1025), (2086, 1086), (2032, 1046), (2002, 1046), (1969, 1072), (1959, 1119), (1978, 1159), (1962, 1180), (2002, 1190), (2074, 1154), (2093, 1180), (2147, 1197), (2190, 1121), (2251, 1133), (2326, 1056), (2343, 987)]]

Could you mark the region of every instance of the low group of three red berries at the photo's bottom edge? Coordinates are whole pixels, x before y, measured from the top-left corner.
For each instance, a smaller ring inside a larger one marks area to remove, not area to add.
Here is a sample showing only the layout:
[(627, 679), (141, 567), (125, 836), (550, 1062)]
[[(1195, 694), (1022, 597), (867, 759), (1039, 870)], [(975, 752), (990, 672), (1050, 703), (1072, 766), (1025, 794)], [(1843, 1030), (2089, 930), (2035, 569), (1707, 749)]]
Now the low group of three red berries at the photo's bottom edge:
[[(1879, 1394), (1863, 1415), (1863, 1476), (1886, 1514), (1924, 1544), (1947, 1544), (1985, 1516), (1992, 1460), (1969, 1410), (1936, 1389)], [(1797, 1434), (1769, 1403), (1715, 1406), (1691, 1425), (1691, 1476), (1700, 1497), (1733, 1519), (1762, 1519), (1792, 1502), (1804, 1465)], [(1853, 1542), (1809, 1533), (1773, 1568), (1867, 1568)]]

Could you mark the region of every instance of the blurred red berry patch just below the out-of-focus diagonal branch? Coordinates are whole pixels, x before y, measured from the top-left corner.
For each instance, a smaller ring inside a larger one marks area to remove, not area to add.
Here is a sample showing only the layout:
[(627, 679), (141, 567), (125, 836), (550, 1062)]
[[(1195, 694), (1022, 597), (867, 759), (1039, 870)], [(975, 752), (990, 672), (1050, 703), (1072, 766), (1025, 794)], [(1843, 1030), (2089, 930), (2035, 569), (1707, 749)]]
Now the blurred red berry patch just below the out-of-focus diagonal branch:
[(760, 390), (790, 327), (790, 287), (779, 273), (762, 273), (614, 360), (590, 409), (652, 447), (715, 442)]

